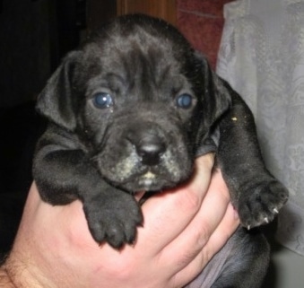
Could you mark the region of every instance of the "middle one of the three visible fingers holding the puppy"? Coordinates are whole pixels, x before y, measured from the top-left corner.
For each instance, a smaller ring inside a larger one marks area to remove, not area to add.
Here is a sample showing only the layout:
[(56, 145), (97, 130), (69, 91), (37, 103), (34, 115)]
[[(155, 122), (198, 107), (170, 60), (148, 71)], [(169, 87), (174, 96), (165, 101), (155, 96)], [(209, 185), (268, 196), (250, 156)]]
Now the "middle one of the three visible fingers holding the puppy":
[[(224, 218), (229, 204), (230, 196), (221, 177), (221, 172), (214, 172), (210, 188), (204, 197), (200, 211), (188, 224), (187, 228), (178, 235), (178, 238), (173, 240), (162, 253), (164, 259), (172, 259), (176, 255), (183, 257), (178, 260), (177, 272), (187, 266), (204, 248)], [(183, 251), (183, 254), (178, 253), (178, 251)]]

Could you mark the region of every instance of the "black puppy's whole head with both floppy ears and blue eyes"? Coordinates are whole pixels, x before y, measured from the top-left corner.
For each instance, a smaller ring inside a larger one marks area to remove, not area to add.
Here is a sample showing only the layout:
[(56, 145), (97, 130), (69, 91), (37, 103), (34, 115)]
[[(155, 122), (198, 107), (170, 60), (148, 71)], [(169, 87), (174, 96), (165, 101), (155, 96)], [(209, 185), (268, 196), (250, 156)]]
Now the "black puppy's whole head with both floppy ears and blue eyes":
[(229, 105), (224, 84), (174, 27), (127, 15), (65, 57), (37, 109), (78, 135), (104, 179), (140, 191), (187, 179)]

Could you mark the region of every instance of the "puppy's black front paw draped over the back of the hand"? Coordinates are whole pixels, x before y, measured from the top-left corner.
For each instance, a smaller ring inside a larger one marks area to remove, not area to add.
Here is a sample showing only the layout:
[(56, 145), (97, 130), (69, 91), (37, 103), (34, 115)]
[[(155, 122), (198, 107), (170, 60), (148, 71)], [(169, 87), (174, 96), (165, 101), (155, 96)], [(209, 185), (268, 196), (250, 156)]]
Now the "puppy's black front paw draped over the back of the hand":
[(134, 243), (136, 227), (143, 223), (140, 206), (133, 196), (125, 193), (96, 196), (83, 203), (83, 210), (94, 240), (107, 241), (116, 249)]

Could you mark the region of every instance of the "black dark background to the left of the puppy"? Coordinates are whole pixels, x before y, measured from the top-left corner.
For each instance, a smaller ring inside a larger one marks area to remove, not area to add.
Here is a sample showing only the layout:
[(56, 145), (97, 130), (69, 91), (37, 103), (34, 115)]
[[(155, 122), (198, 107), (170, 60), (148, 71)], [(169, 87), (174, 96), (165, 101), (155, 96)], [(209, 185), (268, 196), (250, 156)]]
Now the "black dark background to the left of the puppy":
[(45, 127), (35, 100), (85, 29), (84, 0), (0, 0), (0, 260), (12, 246)]

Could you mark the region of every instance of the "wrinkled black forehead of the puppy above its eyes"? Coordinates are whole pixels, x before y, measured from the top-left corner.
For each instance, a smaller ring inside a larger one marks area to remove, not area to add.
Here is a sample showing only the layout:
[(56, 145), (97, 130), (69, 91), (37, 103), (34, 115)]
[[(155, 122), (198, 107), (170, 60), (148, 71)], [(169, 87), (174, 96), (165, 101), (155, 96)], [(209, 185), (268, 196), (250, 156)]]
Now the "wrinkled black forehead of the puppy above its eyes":
[(127, 35), (114, 33), (87, 46), (91, 57), (87, 63), (95, 66), (97, 76), (137, 87), (139, 83), (159, 86), (168, 78), (175, 86), (183, 83), (182, 61), (173, 52), (174, 43), (138, 30)]

